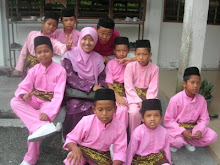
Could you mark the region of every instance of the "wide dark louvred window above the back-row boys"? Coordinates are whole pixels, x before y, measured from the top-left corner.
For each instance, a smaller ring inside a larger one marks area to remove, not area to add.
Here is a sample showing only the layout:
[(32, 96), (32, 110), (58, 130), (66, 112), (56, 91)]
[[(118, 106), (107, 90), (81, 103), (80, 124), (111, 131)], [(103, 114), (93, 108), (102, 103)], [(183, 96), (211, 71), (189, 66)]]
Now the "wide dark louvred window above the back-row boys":
[[(48, 11), (60, 14), (64, 6), (58, 1), (64, 0), (7, 0), (8, 16), (42, 17)], [(68, 6), (75, 8), (77, 18), (109, 16), (114, 19), (126, 17), (138, 17), (142, 21), (145, 19), (146, 0), (66, 0), (66, 2)]]

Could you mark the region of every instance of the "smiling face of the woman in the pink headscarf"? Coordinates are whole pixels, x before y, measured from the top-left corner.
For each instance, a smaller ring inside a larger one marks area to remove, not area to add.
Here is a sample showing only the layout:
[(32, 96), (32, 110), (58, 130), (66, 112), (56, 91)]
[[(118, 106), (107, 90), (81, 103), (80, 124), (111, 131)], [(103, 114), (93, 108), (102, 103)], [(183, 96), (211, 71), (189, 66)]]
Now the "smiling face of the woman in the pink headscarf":
[(84, 52), (90, 53), (95, 47), (95, 41), (91, 35), (87, 34), (80, 41), (80, 46)]

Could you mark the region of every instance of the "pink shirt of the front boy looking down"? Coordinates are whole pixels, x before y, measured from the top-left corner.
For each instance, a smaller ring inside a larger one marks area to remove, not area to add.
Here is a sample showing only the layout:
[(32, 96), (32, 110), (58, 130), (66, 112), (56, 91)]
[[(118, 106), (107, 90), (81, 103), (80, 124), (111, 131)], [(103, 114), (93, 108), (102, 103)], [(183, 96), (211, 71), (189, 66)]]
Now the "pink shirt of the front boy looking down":
[(113, 144), (113, 160), (125, 162), (126, 159), (127, 133), (125, 126), (116, 118), (105, 126), (96, 115), (84, 116), (67, 134), (63, 146), (66, 150), (68, 143), (79, 144), (98, 151), (109, 151), (110, 145)]

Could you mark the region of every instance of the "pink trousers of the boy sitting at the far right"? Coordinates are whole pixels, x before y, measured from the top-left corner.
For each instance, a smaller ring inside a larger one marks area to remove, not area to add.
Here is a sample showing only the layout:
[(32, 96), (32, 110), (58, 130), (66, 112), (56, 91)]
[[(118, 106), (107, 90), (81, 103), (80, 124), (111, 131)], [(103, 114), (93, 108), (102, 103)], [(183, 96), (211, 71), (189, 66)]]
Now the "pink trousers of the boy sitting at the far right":
[(175, 138), (170, 136), (170, 146), (174, 148), (180, 148), (185, 146), (187, 143), (193, 146), (204, 147), (208, 146), (211, 143), (214, 143), (217, 140), (217, 134), (210, 128), (206, 128), (202, 137), (200, 139), (185, 139), (183, 135), (176, 136)]

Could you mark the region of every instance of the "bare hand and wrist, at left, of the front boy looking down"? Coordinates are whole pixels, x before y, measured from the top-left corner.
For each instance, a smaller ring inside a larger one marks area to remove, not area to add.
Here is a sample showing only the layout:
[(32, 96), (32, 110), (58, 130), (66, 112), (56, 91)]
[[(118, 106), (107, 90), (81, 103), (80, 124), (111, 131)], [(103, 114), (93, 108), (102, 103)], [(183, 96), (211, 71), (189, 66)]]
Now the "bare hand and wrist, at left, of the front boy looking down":
[(71, 154), (68, 154), (67, 160), (69, 163), (79, 165), (83, 159), (82, 152), (80, 148), (74, 143), (68, 143), (67, 148), (71, 151)]

